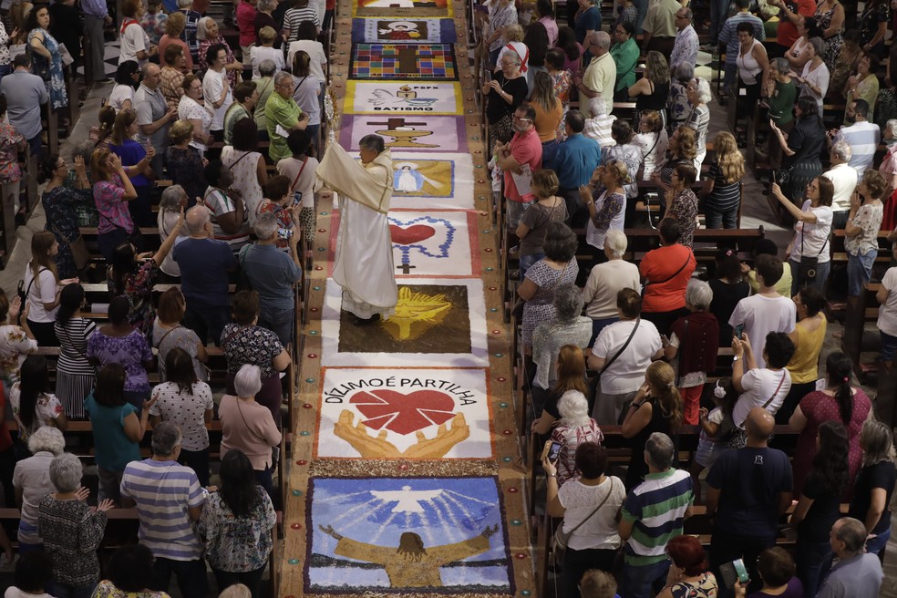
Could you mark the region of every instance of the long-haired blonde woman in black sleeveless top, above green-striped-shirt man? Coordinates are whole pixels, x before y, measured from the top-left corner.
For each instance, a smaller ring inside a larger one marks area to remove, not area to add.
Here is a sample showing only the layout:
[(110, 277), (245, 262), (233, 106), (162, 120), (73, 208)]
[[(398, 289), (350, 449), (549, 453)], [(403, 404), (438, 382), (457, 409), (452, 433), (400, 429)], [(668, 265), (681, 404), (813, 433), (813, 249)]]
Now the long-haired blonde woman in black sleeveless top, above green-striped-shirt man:
[[(648, 473), (648, 464), (644, 462), (644, 443), (648, 437), (662, 432), (678, 447), (683, 414), (682, 396), (675, 382), (673, 367), (664, 361), (655, 361), (644, 372), (644, 384), (624, 411), (623, 438), (629, 438), (633, 449), (626, 471), (627, 490), (642, 483)], [(676, 459), (673, 461), (675, 466)]]

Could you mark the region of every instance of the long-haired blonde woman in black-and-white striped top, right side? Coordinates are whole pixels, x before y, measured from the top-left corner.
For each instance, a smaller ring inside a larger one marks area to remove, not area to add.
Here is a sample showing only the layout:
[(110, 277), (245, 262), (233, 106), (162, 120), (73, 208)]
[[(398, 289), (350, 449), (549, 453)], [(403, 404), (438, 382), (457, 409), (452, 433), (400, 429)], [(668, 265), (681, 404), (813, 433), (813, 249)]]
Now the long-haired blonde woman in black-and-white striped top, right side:
[(720, 131), (713, 142), (717, 159), (701, 189), (701, 208), (708, 229), (734, 229), (738, 225), (738, 206), (741, 205), (741, 178), (745, 176), (745, 157), (738, 151), (735, 136)]

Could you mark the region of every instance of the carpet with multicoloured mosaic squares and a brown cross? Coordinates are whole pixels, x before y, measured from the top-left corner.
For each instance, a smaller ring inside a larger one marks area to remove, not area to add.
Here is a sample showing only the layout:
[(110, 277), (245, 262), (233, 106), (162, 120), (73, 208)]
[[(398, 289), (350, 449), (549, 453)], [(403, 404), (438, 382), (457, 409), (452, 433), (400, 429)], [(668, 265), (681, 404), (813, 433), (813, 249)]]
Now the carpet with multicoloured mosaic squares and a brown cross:
[(355, 44), (349, 73), (356, 79), (458, 80), (448, 44)]

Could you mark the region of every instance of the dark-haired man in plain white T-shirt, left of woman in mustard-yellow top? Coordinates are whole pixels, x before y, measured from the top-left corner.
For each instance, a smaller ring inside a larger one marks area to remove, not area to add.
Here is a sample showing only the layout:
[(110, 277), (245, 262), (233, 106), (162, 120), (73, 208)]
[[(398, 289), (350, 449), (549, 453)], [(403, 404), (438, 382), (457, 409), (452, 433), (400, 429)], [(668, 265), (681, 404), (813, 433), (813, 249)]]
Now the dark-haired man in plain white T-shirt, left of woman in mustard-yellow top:
[(758, 356), (757, 366), (766, 367), (763, 350), (767, 335), (794, 330), (797, 312), (793, 301), (776, 292), (776, 283), (783, 271), (782, 261), (772, 255), (761, 255), (754, 269), (760, 292), (739, 301), (728, 323), (734, 331), (737, 332), (740, 326), (748, 335), (754, 354)]

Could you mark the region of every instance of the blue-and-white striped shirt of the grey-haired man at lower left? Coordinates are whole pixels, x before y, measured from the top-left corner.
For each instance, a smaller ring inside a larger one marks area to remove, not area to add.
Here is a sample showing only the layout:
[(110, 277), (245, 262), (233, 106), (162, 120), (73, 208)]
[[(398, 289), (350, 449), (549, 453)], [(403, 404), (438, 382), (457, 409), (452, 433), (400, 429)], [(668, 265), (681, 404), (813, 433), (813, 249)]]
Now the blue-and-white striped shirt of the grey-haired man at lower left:
[(137, 502), (140, 543), (157, 557), (195, 561), (202, 541), (189, 509), (201, 507), (205, 493), (192, 469), (175, 461), (131, 461), (121, 478), (121, 496)]

